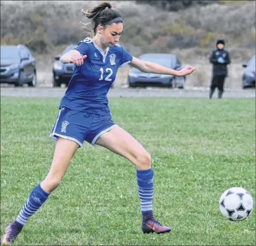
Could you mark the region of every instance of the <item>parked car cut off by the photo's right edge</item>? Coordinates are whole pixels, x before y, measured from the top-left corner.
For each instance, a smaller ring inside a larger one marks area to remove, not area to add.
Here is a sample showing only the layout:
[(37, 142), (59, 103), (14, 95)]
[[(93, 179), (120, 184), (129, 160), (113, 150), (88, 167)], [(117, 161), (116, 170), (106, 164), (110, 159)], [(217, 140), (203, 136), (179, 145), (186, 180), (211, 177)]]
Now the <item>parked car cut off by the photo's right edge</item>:
[(242, 75), (242, 88), (255, 88), (255, 55), (247, 64), (243, 64), (242, 66), (245, 68)]

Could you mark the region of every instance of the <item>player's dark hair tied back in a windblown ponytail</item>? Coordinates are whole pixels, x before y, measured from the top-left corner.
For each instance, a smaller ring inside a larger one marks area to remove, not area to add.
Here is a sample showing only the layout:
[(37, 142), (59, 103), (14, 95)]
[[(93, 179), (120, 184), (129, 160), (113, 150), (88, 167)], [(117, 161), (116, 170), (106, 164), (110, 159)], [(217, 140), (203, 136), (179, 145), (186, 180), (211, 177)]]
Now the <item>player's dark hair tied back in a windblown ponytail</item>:
[[(96, 28), (98, 27), (98, 25), (103, 25), (103, 27), (106, 27), (107, 25), (111, 25), (112, 23), (122, 23), (122, 19), (118, 18), (121, 17), (119, 11), (117, 9), (113, 9), (111, 4), (108, 2), (100, 3), (96, 7), (87, 9), (86, 11), (82, 9), (82, 14), (90, 20), (90, 23), (82, 24), (86, 29), (90, 29), (90, 34), (94, 35), (96, 35)], [(118, 19), (112, 22), (112, 20), (116, 18)], [(91, 26), (88, 27), (88, 25), (90, 24)]]

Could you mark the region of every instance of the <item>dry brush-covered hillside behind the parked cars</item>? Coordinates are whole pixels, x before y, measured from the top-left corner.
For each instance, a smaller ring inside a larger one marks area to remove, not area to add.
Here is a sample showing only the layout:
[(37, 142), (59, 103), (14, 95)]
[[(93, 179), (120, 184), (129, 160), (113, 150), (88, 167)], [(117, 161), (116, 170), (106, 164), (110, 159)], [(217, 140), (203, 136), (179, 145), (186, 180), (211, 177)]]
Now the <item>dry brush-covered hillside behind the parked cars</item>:
[[(51, 82), (54, 55), (84, 39), (81, 8), (99, 1), (1, 1), (1, 45), (26, 44), (37, 58), (40, 83)], [(208, 86), (208, 56), (218, 38), (231, 54), (227, 87), (240, 88), (242, 63), (255, 54), (255, 1), (215, 1), (180, 11), (163, 11), (135, 1), (110, 1), (124, 20), (121, 44), (134, 56), (145, 52), (177, 54), (183, 65), (198, 68), (186, 84)], [(146, 18), (145, 18), (146, 13)], [(115, 86), (126, 85), (129, 66)]]

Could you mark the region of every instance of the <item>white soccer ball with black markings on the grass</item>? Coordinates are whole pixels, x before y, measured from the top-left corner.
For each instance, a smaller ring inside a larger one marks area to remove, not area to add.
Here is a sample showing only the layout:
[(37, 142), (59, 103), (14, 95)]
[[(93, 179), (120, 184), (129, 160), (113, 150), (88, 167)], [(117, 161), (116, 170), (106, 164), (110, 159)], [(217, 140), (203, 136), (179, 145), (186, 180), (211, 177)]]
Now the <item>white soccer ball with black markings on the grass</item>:
[(252, 195), (241, 187), (229, 188), (221, 195), (219, 209), (230, 221), (242, 221), (252, 213)]

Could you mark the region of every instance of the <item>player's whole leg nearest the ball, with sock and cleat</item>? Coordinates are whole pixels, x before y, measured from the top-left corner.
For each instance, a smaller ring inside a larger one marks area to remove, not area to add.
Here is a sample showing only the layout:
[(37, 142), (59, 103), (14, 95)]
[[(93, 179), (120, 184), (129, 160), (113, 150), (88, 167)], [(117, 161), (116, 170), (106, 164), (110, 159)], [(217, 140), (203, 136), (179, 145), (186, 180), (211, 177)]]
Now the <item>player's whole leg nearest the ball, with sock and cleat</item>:
[(150, 154), (135, 138), (119, 126), (103, 133), (96, 141), (96, 144), (125, 157), (136, 166), (139, 185), (138, 192), (141, 199), (141, 212), (143, 214), (143, 232), (169, 232), (171, 228), (163, 226), (153, 216), (153, 170), (151, 170)]

